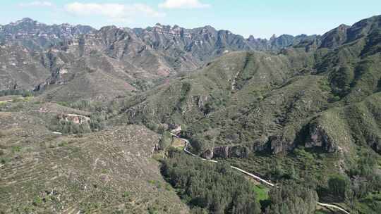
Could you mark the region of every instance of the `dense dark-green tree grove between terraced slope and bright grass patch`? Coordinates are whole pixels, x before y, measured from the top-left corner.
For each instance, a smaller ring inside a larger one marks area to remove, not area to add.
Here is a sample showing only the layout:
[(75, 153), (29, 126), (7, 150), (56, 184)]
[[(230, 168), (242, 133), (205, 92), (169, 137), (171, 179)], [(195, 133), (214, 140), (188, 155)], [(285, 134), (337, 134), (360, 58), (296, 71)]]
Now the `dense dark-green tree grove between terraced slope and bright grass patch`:
[(253, 184), (222, 163), (171, 151), (162, 174), (194, 213), (260, 213)]

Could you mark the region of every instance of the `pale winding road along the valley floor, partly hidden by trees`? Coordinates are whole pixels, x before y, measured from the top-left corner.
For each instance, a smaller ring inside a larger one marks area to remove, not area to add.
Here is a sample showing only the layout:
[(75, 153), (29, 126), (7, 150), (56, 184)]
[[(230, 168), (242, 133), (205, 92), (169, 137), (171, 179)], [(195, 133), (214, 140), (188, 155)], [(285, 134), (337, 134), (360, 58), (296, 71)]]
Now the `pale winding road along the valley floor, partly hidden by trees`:
[[(200, 156), (197, 156), (197, 155), (195, 155), (194, 153), (191, 153), (191, 151), (188, 150), (188, 145), (190, 144), (188, 139), (183, 139), (183, 138), (181, 138), (181, 137), (179, 137), (179, 136), (177, 136), (176, 134), (173, 134), (173, 133), (171, 133), (171, 135), (176, 137), (176, 138), (179, 138), (179, 139), (181, 139), (182, 141), (185, 142), (184, 152), (188, 153), (191, 156), (194, 156), (194, 157), (197, 157), (197, 158), (201, 158)], [(212, 163), (218, 163), (217, 160), (207, 160), (205, 158), (201, 158), (201, 159), (205, 160), (205, 161), (212, 162)], [(234, 170), (238, 170), (239, 172), (242, 172), (243, 174), (252, 177), (253, 179), (257, 180), (258, 182), (261, 182), (262, 184), (265, 184), (265, 185), (267, 185), (269, 187), (277, 187), (276, 184), (272, 184), (271, 182), (268, 182), (267, 180), (264, 180), (264, 179), (258, 177), (257, 175), (253, 175), (252, 173), (250, 173), (248, 171), (245, 171), (245, 170), (240, 169), (240, 168), (236, 168), (235, 166), (232, 166), (232, 165), (230, 167), (233, 168)], [(341, 208), (341, 207), (333, 205), (333, 204), (317, 202), (317, 205), (325, 207), (325, 208), (334, 208), (334, 209), (340, 210), (343, 213), (351, 214), (348, 211), (344, 210), (344, 208)]]

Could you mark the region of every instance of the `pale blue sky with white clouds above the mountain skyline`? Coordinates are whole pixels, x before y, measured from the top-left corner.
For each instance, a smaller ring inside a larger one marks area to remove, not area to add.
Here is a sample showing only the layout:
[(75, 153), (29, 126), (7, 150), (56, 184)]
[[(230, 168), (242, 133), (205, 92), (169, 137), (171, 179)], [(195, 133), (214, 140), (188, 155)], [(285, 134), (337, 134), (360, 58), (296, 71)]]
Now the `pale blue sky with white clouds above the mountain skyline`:
[(248, 37), (322, 34), (381, 14), (380, 0), (16, 0), (1, 1), (0, 24), (29, 17), (41, 23), (147, 27), (212, 25)]

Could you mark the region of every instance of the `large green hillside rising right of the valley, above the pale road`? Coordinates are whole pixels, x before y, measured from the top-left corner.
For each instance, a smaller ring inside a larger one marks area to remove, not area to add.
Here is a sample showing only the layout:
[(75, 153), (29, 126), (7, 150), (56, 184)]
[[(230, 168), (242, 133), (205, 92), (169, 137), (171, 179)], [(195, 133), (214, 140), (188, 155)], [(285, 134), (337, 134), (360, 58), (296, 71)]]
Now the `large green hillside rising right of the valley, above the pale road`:
[[(224, 158), (279, 182), (312, 179), (317, 189), (346, 175), (356, 194), (357, 185), (380, 181), (380, 32), (381, 16), (375, 16), (278, 53), (227, 53), (119, 100), (119, 115), (109, 122), (156, 131), (181, 126), (192, 151), (204, 158)], [(269, 168), (274, 158), (279, 168)], [(332, 200), (327, 191), (318, 194)]]

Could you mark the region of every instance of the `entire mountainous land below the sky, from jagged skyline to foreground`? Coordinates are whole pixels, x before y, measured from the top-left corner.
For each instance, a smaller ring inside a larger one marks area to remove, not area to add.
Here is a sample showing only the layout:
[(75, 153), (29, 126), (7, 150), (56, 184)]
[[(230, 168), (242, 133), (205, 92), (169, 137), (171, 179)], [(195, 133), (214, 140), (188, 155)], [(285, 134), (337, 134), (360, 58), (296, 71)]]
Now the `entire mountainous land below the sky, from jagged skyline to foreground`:
[(0, 25), (0, 213), (381, 213), (381, 15), (322, 35)]

